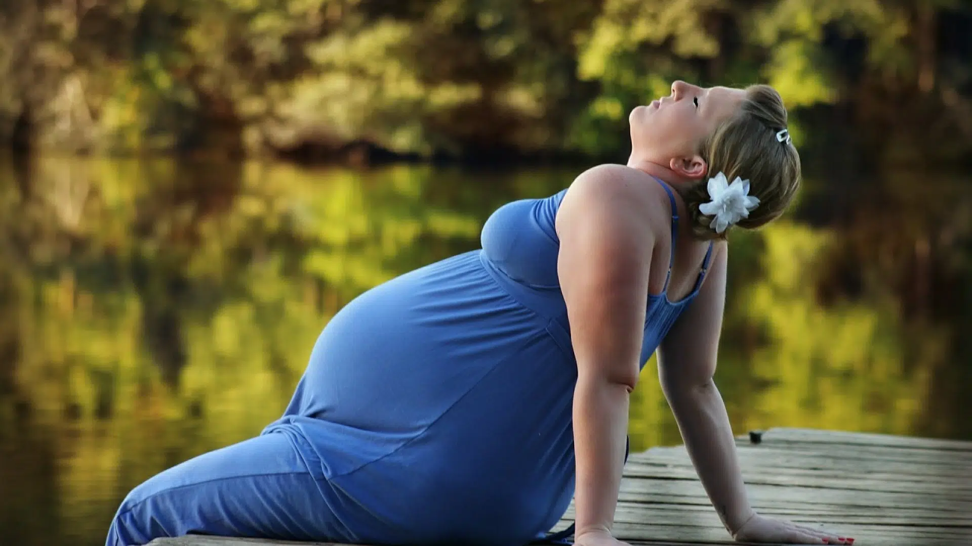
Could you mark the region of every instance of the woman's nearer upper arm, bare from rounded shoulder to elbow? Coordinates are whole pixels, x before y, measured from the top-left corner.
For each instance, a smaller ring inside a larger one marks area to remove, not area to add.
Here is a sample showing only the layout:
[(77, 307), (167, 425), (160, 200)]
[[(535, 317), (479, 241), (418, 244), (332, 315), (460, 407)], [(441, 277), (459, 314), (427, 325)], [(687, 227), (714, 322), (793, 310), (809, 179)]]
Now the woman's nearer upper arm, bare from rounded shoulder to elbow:
[(634, 389), (654, 236), (644, 175), (602, 165), (577, 177), (557, 214), (558, 276), (577, 373)]

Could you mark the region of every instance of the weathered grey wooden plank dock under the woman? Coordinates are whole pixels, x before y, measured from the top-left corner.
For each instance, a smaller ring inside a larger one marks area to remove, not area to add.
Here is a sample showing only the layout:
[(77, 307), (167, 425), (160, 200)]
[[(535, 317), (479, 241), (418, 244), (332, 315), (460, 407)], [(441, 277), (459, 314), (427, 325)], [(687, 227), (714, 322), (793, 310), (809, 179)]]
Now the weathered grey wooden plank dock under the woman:
[[(737, 439), (753, 507), (852, 536), (854, 546), (972, 546), (972, 442), (771, 428)], [(573, 506), (558, 529), (570, 524)], [(633, 544), (737, 544), (684, 447), (633, 454), (615, 534)], [(192, 536), (153, 546), (311, 546)]]

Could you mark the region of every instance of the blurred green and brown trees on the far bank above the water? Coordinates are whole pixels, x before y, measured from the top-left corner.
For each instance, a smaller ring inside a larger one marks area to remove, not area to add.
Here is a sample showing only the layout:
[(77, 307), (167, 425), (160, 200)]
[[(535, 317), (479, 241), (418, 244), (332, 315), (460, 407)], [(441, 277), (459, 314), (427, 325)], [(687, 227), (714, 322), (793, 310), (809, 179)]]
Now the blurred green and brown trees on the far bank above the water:
[[(68, 151), (260, 154), (365, 141), (427, 155), (619, 154), (628, 111), (677, 78), (775, 85), (794, 134), (800, 112), (821, 104), (866, 110), (895, 96), (938, 125), (956, 101), (972, 108), (967, 75), (952, 68), (969, 62), (961, 32), (938, 38), (942, 21), (967, 17), (954, 1), (389, 6), (10, 0), (0, 7), (0, 139), (19, 118), (36, 145)], [(879, 112), (900, 117), (897, 106)]]

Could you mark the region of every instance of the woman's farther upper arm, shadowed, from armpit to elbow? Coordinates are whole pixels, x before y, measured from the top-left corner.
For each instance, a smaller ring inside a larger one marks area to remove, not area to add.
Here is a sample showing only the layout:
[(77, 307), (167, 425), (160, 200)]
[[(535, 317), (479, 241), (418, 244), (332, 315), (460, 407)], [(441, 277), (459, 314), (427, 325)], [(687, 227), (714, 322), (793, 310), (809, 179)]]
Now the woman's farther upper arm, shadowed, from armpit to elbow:
[(725, 242), (715, 244), (708, 277), (699, 294), (678, 317), (658, 348), (658, 372), (664, 386), (708, 385), (715, 362), (725, 308)]

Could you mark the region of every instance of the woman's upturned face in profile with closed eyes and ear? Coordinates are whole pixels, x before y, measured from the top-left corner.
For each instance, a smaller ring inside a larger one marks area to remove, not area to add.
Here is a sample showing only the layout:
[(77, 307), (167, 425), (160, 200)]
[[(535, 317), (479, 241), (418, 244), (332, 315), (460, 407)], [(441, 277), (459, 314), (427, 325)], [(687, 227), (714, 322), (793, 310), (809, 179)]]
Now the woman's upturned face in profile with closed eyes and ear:
[(698, 155), (699, 143), (735, 114), (745, 98), (743, 89), (673, 83), (671, 95), (631, 112), (632, 155), (683, 176), (705, 176), (708, 166)]

